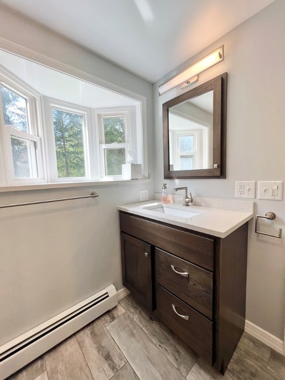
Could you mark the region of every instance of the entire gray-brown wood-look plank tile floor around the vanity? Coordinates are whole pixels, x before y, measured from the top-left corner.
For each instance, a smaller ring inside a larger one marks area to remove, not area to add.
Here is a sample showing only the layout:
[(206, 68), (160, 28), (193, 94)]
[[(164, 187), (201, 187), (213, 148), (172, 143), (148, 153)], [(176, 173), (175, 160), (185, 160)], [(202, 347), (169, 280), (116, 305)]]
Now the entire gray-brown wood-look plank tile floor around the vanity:
[(225, 376), (131, 295), (8, 380), (285, 380), (285, 357), (244, 333)]

